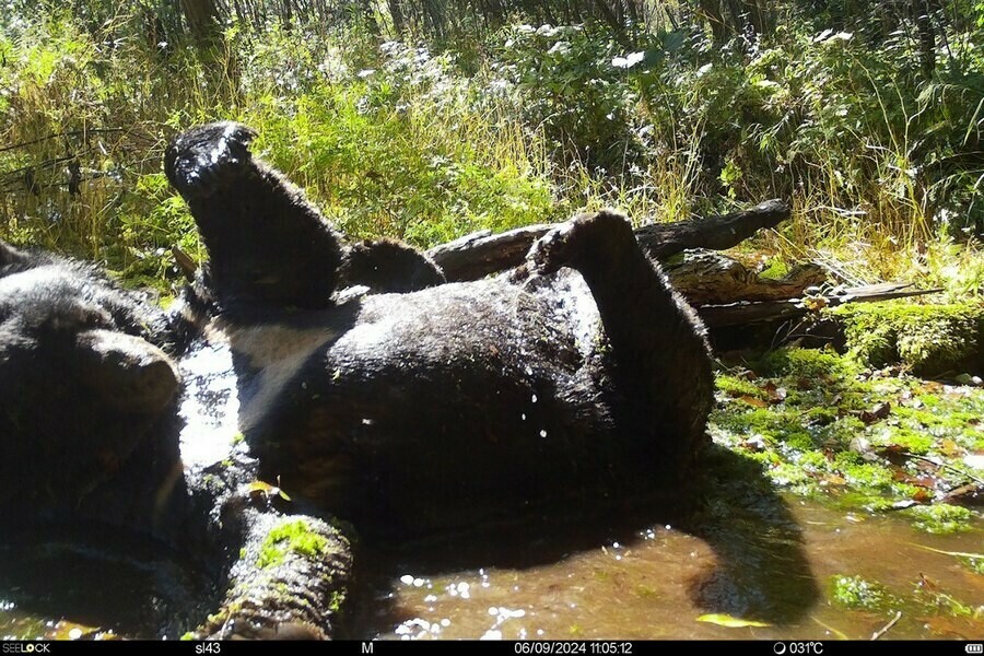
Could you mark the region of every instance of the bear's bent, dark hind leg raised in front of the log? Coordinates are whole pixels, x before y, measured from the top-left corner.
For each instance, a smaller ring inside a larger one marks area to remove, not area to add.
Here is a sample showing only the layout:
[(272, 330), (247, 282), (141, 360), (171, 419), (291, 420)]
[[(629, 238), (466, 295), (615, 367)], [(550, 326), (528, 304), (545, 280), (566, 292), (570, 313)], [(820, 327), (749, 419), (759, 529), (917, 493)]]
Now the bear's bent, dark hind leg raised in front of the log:
[(704, 327), (642, 251), (629, 220), (601, 211), (575, 216), (530, 248), (527, 265), (547, 274), (576, 269), (591, 290), (624, 399), (620, 433), (639, 437), (654, 473), (686, 475), (706, 443), (714, 377)]

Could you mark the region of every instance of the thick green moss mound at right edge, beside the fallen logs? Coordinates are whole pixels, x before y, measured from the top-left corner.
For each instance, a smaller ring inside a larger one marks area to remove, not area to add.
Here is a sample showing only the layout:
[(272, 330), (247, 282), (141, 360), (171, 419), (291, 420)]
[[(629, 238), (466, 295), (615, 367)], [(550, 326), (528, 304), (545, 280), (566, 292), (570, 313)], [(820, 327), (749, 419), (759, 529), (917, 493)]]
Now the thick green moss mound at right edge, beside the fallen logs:
[(902, 363), (938, 374), (974, 356), (984, 330), (984, 305), (844, 305), (829, 311), (844, 327), (847, 348), (870, 366)]

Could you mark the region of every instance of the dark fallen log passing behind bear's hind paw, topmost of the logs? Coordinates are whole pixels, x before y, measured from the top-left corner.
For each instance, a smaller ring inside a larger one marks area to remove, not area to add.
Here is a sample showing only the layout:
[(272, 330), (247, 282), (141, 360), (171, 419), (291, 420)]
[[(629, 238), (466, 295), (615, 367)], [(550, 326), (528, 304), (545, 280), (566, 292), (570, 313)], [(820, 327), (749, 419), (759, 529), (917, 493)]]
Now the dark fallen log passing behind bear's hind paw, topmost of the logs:
[[(651, 257), (665, 259), (688, 248), (730, 248), (757, 231), (773, 227), (788, 218), (788, 204), (768, 200), (722, 216), (643, 225), (636, 229), (635, 235)], [(427, 255), (444, 270), (449, 282), (478, 280), (523, 263), (530, 245), (551, 227), (529, 225), (495, 235), (480, 231), (435, 246)]]

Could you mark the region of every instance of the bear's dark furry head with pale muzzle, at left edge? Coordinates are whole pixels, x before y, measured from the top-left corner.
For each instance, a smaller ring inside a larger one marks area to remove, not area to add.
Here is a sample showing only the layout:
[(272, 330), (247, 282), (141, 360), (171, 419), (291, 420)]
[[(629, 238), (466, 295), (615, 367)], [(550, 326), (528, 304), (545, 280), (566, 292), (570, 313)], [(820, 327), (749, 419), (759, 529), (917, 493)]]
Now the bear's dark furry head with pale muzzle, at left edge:
[(72, 507), (153, 442), (175, 348), (165, 313), (95, 267), (0, 242), (0, 505)]

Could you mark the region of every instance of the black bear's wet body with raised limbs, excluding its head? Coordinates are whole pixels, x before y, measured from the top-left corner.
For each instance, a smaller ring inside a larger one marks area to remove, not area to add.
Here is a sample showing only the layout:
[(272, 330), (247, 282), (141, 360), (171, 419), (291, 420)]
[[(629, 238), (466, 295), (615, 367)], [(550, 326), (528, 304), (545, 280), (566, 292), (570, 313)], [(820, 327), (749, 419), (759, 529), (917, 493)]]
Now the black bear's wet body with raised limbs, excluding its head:
[(254, 138), (195, 128), (165, 172), (209, 253), (207, 331), (232, 349), (263, 476), (386, 536), (687, 478), (707, 443), (705, 330), (624, 215), (561, 224), (509, 276), (344, 294), (358, 249)]

